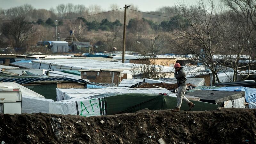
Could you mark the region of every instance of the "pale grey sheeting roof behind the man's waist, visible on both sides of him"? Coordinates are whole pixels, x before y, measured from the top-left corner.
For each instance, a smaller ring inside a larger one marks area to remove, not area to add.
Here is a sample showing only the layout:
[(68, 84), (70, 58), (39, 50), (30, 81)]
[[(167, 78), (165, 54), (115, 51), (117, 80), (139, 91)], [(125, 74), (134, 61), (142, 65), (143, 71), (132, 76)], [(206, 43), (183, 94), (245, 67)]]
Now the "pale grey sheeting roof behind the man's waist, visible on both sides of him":
[[(158, 80), (170, 82), (170, 83), (177, 83), (176, 78), (159, 78)], [(204, 86), (205, 81), (204, 81), (204, 78), (187, 78), (187, 84), (194, 84), (196, 86)]]

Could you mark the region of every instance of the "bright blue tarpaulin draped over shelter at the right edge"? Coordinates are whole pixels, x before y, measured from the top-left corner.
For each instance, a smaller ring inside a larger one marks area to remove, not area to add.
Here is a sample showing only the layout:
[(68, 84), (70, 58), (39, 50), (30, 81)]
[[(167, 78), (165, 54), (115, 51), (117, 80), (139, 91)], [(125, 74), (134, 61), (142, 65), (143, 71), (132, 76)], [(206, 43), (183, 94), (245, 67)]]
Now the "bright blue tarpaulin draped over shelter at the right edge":
[[(208, 90), (208, 89), (204, 89)], [(227, 86), (221, 87), (219, 89), (214, 89), (212, 91), (244, 91), (245, 92), (245, 100), (246, 102), (256, 102), (256, 89), (250, 87), (243, 87), (243, 86)]]

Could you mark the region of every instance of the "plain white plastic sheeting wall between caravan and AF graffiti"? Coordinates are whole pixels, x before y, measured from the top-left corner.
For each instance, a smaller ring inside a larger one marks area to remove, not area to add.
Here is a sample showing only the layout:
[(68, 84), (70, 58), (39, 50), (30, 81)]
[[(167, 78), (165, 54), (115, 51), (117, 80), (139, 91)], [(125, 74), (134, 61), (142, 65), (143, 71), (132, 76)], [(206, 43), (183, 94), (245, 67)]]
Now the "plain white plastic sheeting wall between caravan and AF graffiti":
[(48, 113), (51, 99), (22, 96), (22, 113)]

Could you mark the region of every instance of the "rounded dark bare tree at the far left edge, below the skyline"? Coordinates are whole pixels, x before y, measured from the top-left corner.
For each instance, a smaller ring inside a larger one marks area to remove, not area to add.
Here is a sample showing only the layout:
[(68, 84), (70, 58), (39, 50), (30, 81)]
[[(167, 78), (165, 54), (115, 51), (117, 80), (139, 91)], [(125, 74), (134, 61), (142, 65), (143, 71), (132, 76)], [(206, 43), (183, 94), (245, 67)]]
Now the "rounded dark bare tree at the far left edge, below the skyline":
[(33, 25), (25, 21), (25, 17), (17, 17), (2, 26), (2, 32), (10, 41), (14, 41), (14, 47), (24, 46), (26, 40), (32, 38), (35, 30)]

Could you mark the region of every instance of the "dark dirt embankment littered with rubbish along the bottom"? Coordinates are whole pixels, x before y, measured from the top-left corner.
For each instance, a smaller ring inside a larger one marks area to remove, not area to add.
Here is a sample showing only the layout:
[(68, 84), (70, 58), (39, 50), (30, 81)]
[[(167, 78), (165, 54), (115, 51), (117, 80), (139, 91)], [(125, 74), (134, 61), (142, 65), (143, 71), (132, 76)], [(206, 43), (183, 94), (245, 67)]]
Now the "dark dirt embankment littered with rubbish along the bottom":
[[(170, 110), (82, 117), (0, 115), (5, 143), (256, 143), (256, 110), (178, 113)], [(0, 141), (0, 142), (1, 142)]]

